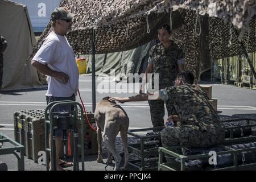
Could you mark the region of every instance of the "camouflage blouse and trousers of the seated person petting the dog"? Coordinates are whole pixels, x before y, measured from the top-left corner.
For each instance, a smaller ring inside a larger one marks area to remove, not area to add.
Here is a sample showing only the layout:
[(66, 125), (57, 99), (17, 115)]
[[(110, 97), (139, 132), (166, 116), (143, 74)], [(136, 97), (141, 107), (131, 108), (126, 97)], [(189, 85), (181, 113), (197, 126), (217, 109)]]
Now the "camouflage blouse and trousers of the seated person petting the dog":
[(181, 118), (180, 126), (162, 130), (164, 147), (207, 147), (224, 139), (224, 125), (200, 86), (171, 86), (160, 90), (159, 96), (162, 100), (173, 102), (177, 115)]

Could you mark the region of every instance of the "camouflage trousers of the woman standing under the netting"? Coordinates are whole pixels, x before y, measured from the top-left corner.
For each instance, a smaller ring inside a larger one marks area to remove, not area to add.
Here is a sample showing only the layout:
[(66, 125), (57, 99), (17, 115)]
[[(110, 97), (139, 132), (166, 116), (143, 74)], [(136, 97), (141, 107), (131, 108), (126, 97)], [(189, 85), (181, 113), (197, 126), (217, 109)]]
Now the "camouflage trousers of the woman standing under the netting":
[[(148, 100), (148, 105), (150, 106), (150, 116), (153, 127), (164, 126), (164, 101)], [(166, 109), (168, 116), (175, 113), (174, 106), (168, 101), (166, 101)]]

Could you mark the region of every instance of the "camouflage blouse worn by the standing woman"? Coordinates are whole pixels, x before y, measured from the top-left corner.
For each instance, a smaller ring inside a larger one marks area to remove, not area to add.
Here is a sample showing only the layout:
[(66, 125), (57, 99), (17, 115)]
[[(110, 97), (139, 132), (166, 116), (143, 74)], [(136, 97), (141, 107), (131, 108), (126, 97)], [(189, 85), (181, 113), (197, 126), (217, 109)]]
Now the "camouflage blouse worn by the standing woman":
[(179, 73), (178, 64), (185, 61), (181, 47), (171, 41), (170, 47), (165, 49), (162, 43), (158, 43), (151, 48), (149, 56), (148, 63), (153, 64), (153, 73), (159, 74), (159, 89), (173, 86)]

